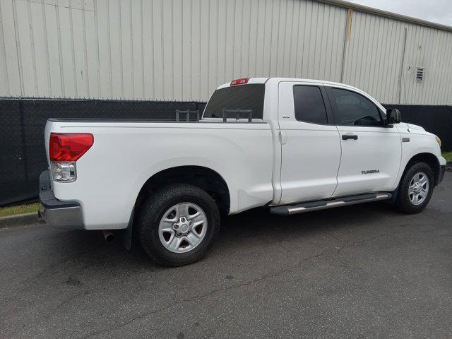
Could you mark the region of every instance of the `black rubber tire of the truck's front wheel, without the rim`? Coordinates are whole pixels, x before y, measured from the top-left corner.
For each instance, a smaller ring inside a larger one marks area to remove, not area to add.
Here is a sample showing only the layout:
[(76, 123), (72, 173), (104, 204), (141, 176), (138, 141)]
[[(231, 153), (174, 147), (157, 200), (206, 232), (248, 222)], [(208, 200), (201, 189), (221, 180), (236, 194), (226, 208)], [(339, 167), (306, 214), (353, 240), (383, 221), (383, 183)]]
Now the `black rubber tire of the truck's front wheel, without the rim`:
[[(430, 198), (432, 198), (433, 188), (434, 188), (434, 173), (432, 168), (425, 162), (414, 162), (405, 170), (402, 179), (400, 179), (398, 195), (396, 198), (396, 207), (403, 213), (420, 213), (424, 210), (425, 206), (428, 205)], [(409, 187), (412, 178), (417, 173), (424, 173), (427, 175), (429, 180), (429, 190), (427, 192), (427, 197), (419, 205), (415, 205), (410, 200)]]

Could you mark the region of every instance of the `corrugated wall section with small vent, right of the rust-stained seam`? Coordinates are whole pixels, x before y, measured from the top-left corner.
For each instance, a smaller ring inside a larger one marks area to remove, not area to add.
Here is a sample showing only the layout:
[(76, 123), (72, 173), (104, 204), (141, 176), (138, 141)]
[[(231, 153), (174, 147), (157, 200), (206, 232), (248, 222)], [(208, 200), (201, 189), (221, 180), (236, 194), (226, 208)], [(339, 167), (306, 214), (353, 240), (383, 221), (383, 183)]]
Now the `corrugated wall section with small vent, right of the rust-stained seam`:
[(344, 83), (381, 102), (452, 103), (452, 32), (355, 11), (345, 46)]

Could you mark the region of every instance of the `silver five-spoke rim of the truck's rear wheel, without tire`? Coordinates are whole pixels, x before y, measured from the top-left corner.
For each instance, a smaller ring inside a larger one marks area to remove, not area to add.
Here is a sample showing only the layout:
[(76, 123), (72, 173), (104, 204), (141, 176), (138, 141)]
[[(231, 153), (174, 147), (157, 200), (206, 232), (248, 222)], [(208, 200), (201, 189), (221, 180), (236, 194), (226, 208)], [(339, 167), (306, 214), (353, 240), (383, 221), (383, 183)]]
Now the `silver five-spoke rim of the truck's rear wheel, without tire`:
[(201, 244), (207, 227), (206, 213), (201, 207), (195, 203), (178, 203), (163, 214), (158, 236), (165, 249), (185, 253)]

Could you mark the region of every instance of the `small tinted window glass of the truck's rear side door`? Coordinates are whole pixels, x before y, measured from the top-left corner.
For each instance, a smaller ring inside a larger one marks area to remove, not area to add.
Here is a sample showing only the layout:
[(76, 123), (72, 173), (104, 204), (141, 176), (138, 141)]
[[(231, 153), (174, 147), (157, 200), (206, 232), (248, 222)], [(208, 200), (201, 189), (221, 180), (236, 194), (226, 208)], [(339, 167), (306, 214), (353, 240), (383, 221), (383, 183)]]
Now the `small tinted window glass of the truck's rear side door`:
[(317, 86), (294, 86), (295, 119), (312, 124), (328, 124), (325, 102)]

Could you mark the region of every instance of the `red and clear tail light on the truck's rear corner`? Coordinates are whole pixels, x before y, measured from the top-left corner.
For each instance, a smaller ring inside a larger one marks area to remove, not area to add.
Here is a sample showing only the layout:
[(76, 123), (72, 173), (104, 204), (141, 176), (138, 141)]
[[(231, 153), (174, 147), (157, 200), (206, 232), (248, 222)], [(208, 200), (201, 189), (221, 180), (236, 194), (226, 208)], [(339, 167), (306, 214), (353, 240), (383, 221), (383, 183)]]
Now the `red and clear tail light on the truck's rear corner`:
[(75, 182), (76, 161), (93, 145), (90, 133), (51, 133), (49, 158), (52, 177), (57, 182)]

